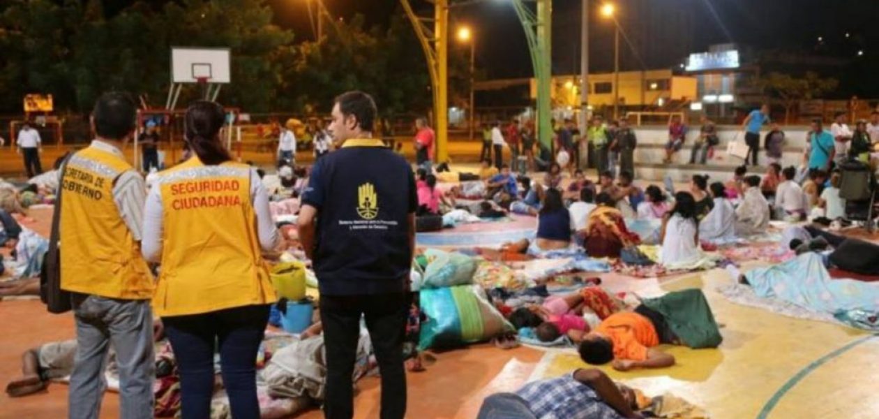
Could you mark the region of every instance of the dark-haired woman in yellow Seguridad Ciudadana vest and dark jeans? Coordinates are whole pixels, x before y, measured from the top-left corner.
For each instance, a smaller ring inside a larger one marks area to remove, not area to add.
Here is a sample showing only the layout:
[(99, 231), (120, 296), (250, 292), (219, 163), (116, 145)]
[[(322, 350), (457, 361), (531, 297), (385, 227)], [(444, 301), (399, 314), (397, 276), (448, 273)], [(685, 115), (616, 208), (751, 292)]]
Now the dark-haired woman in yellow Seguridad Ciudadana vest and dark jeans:
[(214, 102), (186, 110), (193, 156), (158, 174), (145, 209), (142, 252), (161, 263), (153, 309), (177, 358), (184, 419), (210, 415), (216, 350), (232, 416), (259, 417), (257, 350), (275, 301), (261, 252), (280, 234), (256, 171), (222, 146), (224, 121)]

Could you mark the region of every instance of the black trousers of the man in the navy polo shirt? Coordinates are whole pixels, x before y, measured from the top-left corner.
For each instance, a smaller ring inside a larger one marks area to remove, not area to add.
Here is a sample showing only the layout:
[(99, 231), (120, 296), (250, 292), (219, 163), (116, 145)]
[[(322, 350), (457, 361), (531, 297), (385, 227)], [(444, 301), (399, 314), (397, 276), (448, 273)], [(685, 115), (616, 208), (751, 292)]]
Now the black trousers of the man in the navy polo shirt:
[(327, 384), (323, 415), (350, 419), (354, 415), (353, 383), (360, 316), (366, 318), (375, 359), (381, 371), (381, 419), (406, 414), (406, 372), (403, 337), (409, 312), (405, 293), (321, 296), (323, 342), (326, 345)]

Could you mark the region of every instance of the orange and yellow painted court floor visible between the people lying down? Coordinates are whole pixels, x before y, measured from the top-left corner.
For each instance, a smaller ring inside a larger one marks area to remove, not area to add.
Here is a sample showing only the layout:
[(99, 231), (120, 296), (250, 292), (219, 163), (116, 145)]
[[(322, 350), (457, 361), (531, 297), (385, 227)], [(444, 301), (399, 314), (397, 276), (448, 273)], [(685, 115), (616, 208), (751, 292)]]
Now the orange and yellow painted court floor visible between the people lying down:
[[(47, 232), (48, 211), (34, 211), (35, 229)], [(748, 266), (757, 262), (747, 263)], [(723, 323), (719, 349), (668, 348), (679, 364), (665, 370), (616, 372), (614, 378), (650, 395), (672, 392), (705, 408), (713, 418), (875, 418), (879, 417), (879, 363), (874, 334), (810, 320), (783, 317), (733, 305), (717, 292), (730, 283), (723, 269), (655, 279), (606, 274), (613, 291), (650, 296), (699, 287)], [(39, 301), (0, 301), (0, 386), (18, 375), (20, 354), (42, 342), (74, 336), (69, 315), (45, 312)], [(511, 391), (531, 379), (557, 376), (582, 364), (572, 350), (509, 351), (489, 344), (436, 354), (436, 364), (409, 376), (412, 418), (473, 418), (490, 393)], [(363, 379), (355, 399), (357, 418), (378, 417), (379, 380)], [(21, 399), (0, 394), (0, 419), (66, 415), (67, 387)], [(118, 396), (107, 393), (102, 418), (116, 418)], [(312, 409), (297, 417), (319, 418)]]

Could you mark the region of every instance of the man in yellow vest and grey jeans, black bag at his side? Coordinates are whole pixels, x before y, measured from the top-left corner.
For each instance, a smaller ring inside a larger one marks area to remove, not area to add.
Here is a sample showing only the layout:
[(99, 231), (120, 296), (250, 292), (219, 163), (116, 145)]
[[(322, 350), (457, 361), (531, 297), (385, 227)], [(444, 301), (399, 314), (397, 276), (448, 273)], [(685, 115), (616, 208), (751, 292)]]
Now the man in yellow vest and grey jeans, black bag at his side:
[(153, 277), (140, 249), (146, 188), (122, 155), (136, 107), (105, 93), (91, 114), (97, 138), (62, 172), (61, 286), (73, 293), (76, 359), (69, 417), (97, 419), (113, 344), (120, 373), (120, 417), (153, 417)]

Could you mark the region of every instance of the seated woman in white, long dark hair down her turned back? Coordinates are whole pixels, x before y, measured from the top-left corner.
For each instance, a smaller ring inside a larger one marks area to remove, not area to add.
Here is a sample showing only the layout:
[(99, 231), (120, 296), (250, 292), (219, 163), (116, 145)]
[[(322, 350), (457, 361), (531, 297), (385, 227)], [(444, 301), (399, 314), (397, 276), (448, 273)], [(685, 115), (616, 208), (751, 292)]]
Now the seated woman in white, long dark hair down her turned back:
[(659, 239), (659, 263), (663, 265), (686, 264), (701, 258), (699, 249), (699, 220), (693, 195), (679, 192), (674, 195), (674, 208), (665, 214)]

